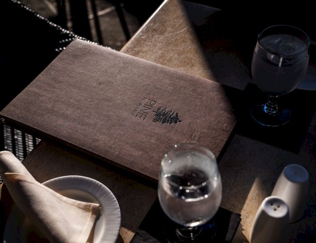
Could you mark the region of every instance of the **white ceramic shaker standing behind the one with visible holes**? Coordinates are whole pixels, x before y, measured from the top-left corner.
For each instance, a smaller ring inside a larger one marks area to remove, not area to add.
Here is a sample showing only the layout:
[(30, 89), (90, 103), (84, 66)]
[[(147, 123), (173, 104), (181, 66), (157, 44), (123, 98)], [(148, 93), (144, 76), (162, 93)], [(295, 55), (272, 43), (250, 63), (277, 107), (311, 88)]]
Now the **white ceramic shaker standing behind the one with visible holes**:
[(308, 172), (298, 164), (286, 166), (280, 174), (272, 191), (288, 206), (290, 223), (298, 221), (304, 213), (308, 196)]

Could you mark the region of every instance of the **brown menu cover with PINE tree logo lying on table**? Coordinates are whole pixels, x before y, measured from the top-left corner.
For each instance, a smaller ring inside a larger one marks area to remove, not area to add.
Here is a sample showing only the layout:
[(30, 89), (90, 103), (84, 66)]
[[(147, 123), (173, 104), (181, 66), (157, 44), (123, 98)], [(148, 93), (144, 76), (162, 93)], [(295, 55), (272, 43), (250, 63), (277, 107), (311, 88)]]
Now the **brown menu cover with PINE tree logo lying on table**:
[(0, 116), (152, 179), (174, 144), (218, 156), (236, 123), (222, 85), (79, 39)]

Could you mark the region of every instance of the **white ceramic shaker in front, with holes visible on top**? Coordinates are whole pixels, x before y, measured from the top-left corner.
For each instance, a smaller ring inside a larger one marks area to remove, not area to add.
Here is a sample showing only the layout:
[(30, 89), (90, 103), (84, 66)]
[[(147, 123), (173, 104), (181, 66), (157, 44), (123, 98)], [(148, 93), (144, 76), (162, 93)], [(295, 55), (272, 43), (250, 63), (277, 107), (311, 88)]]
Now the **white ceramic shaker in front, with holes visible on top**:
[(289, 208), (277, 196), (261, 203), (251, 230), (251, 243), (288, 243), (290, 235)]

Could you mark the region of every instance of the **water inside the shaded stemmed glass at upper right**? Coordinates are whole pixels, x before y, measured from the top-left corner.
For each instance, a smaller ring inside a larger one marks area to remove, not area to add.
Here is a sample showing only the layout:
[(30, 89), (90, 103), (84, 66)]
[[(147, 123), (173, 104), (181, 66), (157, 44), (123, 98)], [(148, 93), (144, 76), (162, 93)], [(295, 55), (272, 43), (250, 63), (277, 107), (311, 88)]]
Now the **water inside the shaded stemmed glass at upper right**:
[(294, 35), (274, 34), (264, 36), (259, 45), (253, 54), (251, 70), (257, 86), (272, 96), (293, 91), (308, 66), (306, 42)]

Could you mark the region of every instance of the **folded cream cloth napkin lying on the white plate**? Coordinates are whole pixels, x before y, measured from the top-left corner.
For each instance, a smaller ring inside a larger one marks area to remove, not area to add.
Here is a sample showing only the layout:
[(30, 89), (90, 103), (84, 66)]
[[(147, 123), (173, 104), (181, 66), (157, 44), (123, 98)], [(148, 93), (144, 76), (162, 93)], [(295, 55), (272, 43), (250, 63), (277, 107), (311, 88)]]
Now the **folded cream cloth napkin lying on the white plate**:
[(17, 207), (50, 242), (87, 242), (98, 204), (64, 197), (40, 184), (8, 151), (0, 152), (0, 176)]

